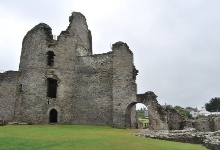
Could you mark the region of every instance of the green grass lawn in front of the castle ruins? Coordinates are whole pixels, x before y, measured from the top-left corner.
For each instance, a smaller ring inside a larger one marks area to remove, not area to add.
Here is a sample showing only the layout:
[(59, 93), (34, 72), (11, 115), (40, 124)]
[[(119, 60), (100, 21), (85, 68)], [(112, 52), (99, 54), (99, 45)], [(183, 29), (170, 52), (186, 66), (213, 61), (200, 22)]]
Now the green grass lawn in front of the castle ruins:
[(131, 135), (138, 130), (76, 125), (0, 126), (1, 150), (204, 150), (201, 145)]

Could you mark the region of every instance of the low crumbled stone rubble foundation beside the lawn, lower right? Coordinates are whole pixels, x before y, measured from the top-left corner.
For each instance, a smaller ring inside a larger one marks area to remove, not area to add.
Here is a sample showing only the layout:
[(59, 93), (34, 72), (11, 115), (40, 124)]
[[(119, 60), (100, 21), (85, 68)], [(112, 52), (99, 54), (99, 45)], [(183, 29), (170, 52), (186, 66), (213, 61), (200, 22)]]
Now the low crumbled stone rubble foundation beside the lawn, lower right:
[(184, 130), (143, 130), (135, 136), (184, 143), (203, 144), (211, 150), (220, 150), (220, 130), (215, 132), (198, 132), (194, 128)]

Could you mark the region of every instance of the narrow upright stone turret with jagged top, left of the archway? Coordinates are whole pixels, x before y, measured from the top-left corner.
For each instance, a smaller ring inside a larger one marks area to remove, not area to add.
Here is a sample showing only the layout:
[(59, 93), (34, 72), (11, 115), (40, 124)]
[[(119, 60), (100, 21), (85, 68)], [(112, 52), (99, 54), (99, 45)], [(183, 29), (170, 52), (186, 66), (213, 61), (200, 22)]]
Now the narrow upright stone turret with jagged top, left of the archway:
[[(136, 102), (136, 83), (134, 78), (133, 53), (128, 45), (117, 42), (113, 50), (113, 126), (125, 128), (125, 114), (130, 103)], [(136, 77), (136, 75), (135, 75)]]

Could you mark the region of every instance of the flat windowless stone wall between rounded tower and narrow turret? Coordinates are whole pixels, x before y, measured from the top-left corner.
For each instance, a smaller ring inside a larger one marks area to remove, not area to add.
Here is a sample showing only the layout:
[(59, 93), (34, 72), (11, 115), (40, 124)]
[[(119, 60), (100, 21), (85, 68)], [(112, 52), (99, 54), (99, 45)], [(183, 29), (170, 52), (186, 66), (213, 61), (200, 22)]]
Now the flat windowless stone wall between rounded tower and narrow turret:
[(73, 123), (112, 125), (112, 53), (78, 57)]

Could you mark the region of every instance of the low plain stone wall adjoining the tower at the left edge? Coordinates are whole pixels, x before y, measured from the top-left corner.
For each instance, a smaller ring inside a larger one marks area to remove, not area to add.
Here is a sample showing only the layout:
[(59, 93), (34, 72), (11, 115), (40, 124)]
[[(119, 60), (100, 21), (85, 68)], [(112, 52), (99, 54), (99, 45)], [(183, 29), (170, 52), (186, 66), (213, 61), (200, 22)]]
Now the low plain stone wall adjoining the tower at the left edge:
[(12, 121), (14, 119), (16, 94), (19, 88), (18, 76), (17, 71), (0, 73), (0, 120)]

